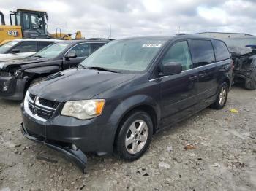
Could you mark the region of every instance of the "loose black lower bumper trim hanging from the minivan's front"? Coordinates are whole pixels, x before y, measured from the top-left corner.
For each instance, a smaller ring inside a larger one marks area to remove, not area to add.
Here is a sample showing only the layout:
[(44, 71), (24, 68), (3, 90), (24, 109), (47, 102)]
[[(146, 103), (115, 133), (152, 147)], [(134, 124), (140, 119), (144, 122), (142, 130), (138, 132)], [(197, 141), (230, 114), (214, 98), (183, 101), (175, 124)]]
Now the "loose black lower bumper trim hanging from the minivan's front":
[(21, 123), (21, 132), (23, 133), (23, 136), (25, 136), (27, 139), (30, 139), (31, 141), (36, 141), (40, 144), (45, 144), (47, 147), (63, 153), (64, 155), (69, 157), (74, 163), (76, 163), (76, 165), (78, 165), (83, 173), (86, 173), (87, 157), (80, 149), (70, 149), (67, 146), (65, 147), (64, 145), (61, 145), (58, 141), (51, 141), (45, 139), (42, 136), (37, 136), (33, 133), (29, 133), (29, 130), (26, 130), (26, 127), (23, 125), (23, 123)]

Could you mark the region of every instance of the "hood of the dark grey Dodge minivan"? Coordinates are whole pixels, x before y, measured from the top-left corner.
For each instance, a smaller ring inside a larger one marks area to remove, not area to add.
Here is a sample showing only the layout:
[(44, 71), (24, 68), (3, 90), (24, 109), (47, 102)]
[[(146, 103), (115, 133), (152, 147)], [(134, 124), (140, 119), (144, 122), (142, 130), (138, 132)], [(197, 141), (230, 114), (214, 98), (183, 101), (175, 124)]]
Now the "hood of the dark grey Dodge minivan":
[(92, 69), (60, 71), (29, 88), (29, 93), (51, 101), (87, 100), (135, 77)]

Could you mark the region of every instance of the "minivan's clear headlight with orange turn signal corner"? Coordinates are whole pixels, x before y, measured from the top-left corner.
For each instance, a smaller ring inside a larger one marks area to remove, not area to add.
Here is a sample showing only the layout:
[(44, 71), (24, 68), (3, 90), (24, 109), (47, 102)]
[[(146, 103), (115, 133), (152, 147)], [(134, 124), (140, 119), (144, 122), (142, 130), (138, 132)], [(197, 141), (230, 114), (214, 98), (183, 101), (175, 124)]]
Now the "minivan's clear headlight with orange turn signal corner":
[(102, 114), (104, 105), (104, 99), (67, 101), (61, 115), (76, 117), (79, 120), (88, 120)]

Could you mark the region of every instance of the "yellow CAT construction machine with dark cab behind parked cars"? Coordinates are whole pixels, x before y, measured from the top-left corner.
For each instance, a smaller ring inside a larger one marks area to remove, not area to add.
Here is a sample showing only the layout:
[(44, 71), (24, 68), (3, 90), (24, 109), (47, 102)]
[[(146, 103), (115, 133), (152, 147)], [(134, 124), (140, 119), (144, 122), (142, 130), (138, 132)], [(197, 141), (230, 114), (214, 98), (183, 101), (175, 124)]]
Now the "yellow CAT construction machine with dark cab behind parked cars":
[(56, 28), (56, 34), (47, 31), (48, 13), (43, 11), (17, 9), (10, 12), (10, 25), (5, 24), (4, 14), (0, 11), (0, 45), (12, 39), (84, 39), (80, 31), (75, 34), (61, 33), (61, 28)]

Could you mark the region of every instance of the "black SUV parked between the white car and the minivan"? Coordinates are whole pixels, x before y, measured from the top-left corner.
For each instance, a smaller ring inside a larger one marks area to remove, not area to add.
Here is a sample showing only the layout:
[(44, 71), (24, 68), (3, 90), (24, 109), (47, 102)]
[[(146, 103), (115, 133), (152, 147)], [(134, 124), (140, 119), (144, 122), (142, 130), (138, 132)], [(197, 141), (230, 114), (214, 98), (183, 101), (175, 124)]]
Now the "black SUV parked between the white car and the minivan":
[(31, 83), (49, 74), (78, 66), (108, 39), (56, 42), (26, 58), (0, 62), (0, 97), (22, 100)]

